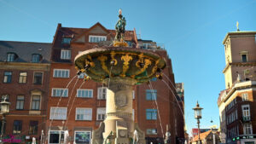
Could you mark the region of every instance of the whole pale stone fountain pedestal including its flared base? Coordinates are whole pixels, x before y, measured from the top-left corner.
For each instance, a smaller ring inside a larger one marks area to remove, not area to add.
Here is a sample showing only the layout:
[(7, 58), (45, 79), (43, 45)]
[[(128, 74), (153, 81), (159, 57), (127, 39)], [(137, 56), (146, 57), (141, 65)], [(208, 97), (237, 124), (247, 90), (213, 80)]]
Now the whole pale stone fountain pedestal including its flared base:
[(103, 81), (103, 84), (109, 84), (106, 101), (107, 118), (100, 124), (98, 130), (93, 131), (93, 144), (108, 143), (108, 141), (111, 144), (130, 144), (134, 130), (138, 132), (139, 143), (146, 143), (143, 131), (134, 123), (132, 117), (132, 90), (136, 83), (137, 81), (132, 78), (108, 78)]

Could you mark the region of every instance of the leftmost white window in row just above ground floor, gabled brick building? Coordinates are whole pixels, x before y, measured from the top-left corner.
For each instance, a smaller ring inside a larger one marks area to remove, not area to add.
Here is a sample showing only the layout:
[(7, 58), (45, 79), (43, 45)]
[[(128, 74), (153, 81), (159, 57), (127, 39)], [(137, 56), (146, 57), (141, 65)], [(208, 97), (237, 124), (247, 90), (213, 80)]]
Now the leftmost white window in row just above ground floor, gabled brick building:
[(67, 107), (50, 107), (49, 119), (55, 119), (55, 120), (67, 119)]

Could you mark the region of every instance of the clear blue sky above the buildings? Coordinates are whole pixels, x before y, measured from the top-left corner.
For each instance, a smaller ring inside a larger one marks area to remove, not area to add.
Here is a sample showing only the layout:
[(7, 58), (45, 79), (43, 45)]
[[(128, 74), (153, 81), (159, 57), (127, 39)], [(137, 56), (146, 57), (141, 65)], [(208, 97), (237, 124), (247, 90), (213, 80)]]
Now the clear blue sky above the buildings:
[[(74, 3), (75, 2), (75, 3)], [(201, 127), (218, 124), (217, 99), (224, 89), (224, 46), (227, 32), (256, 31), (256, 0), (0, 0), (0, 40), (51, 43), (58, 23), (113, 29), (119, 9), (127, 30), (164, 43), (176, 82), (185, 88), (187, 129), (196, 126), (195, 103), (201, 104)]]

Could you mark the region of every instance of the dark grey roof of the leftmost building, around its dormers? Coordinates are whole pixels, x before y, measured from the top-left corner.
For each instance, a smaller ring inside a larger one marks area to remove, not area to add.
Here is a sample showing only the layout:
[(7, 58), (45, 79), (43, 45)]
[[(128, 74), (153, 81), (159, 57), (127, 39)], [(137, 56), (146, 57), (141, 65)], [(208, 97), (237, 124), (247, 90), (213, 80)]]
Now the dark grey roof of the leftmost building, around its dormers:
[(43, 56), (40, 63), (49, 63), (51, 43), (0, 41), (0, 61), (7, 61), (8, 53), (15, 53), (14, 62), (31, 62), (32, 54)]

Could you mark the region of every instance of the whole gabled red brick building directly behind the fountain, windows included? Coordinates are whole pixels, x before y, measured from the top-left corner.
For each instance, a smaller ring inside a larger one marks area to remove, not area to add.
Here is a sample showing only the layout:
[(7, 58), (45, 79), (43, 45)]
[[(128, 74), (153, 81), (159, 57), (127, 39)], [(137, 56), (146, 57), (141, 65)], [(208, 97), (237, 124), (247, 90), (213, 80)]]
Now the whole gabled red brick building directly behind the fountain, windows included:
[[(45, 141), (58, 143), (60, 131), (68, 130), (68, 141), (90, 142), (91, 131), (96, 130), (105, 118), (107, 88), (92, 80), (84, 82), (84, 74), (77, 76), (73, 60), (81, 51), (111, 45), (114, 36), (114, 30), (108, 30), (100, 23), (90, 28), (58, 25), (52, 43), (46, 124), (48, 137)], [(137, 39), (135, 30), (125, 32), (125, 41), (133, 48), (154, 50), (167, 62), (164, 82), (152, 79), (149, 84), (137, 85), (134, 88), (135, 122), (145, 132), (148, 143), (163, 143), (167, 127), (172, 134), (172, 143), (182, 142), (184, 119), (180, 112), (180, 109), (183, 110), (180, 101), (183, 103), (183, 99), (174, 97), (177, 92), (172, 61), (168, 58), (166, 50), (152, 41)], [(82, 139), (81, 135), (87, 138)]]

